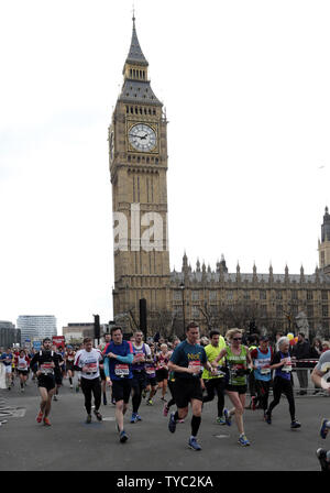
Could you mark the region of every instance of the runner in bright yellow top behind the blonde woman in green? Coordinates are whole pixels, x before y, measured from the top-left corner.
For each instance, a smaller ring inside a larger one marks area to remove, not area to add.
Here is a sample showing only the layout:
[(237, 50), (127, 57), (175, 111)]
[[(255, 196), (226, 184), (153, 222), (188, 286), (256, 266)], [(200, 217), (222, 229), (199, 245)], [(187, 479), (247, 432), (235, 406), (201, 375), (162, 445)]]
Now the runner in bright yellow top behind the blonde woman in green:
[[(220, 351), (223, 348), (226, 348), (226, 341), (224, 338), (220, 336), (219, 330), (210, 331), (210, 341), (211, 341), (210, 344), (206, 346), (204, 349), (207, 354), (208, 361), (211, 363), (219, 355)], [(207, 396), (202, 397), (202, 402), (208, 403), (210, 401), (213, 401), (215, 393), (217, 392), (218, 395), (217, 423), (219, 425), (226, 425), (226, 419), (223, 417), (226, 373), (222, 369), (222, 364), (224, 364), (223, 359), (219, 361), (216, 374), (205, 369), (201, 375), (207, 391)]]

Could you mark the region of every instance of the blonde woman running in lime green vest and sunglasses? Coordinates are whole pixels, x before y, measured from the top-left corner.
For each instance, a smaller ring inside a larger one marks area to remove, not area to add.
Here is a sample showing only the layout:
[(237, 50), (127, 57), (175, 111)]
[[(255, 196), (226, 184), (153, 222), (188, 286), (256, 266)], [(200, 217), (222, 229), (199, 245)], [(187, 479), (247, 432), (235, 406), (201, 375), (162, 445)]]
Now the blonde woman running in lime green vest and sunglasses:
[(242, 447), (250, 446), (244, 432), (243, 413), (246, 399), (248, 380), (250, 374), (251, 357), (249, 349), (242, 344), (242, 330), (230, 329), (226, 333), (228, 346), (220, 351), (220, 354), (213, 360), (212, 365), (217, 366), (219, 361), (226, 357), (228, 375), (226, 381), (226, 393), (233, 404), (233, 408), (223, 409), (224, 419), (228, 426), (231, 426), (231, 416), (235, 416), (239, 429), (239, 443)]

